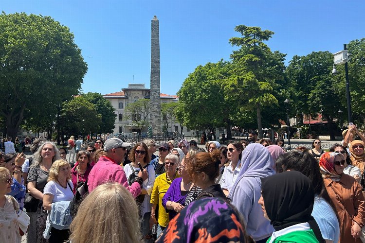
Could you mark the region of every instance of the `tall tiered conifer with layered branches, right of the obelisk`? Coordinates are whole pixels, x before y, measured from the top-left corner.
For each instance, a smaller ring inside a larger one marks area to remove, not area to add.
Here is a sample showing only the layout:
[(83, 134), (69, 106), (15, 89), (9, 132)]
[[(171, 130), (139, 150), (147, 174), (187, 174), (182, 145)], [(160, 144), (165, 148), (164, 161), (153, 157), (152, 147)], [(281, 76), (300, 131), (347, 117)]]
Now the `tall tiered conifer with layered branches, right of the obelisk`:
[(233, 69), (228, 78), (220, 81), (226, 99), (235, 100), (241, 113), (256, 110), (259, 137), (263, 137), (261, 109), (278, 104), (274, 96), (275, 80), (283, 80), (281, 69), (274, 64), (282, 64), (282, 53), (271, 52), (263, 42), (269, 40), (274, 32), (262, 31), (259, 27), (238, 25), (235, 31), (243, 37), (233, 37), (232, 46), (240, 47), (233, 51)]

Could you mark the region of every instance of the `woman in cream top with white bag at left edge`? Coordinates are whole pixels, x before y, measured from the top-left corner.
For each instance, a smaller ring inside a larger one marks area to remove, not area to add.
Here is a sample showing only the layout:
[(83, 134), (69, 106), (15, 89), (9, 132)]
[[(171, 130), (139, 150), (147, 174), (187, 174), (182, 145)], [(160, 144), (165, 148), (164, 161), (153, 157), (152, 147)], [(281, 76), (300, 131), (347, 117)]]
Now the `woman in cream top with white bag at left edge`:
[(19, 225), (17, 212), (19, 207), (17, 200), (6, 194), (11, 192), (13, 177), (8, 169), (0, 167), (0, 242), (20, 243)]

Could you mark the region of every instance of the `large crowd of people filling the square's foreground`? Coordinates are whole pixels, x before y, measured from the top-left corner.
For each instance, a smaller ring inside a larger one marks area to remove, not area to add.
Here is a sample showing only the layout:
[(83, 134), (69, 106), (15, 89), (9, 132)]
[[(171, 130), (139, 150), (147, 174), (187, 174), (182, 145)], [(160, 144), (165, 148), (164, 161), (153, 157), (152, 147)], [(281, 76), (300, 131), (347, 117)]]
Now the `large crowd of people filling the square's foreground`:
[(28, 243), (365, 242), (365, 138), (346, 132), (328, 152), (255, 131), (205, 149), (36, 139), (28, 158), (0, 154), (0, 242), (21, 241), (21, 212)]

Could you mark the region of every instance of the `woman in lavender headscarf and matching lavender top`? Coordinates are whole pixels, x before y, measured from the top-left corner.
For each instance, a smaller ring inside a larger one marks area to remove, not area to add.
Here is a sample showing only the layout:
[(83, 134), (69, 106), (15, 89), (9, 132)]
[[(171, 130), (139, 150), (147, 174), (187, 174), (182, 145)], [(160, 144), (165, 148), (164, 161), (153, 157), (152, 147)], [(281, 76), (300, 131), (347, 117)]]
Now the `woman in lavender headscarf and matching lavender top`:
[(275, 174), (269, 150), (259, 143), (249, 144), (242, 152), (241, 169), (229, 193), (232, 204), (242, 213), (247, 233), (257, 243), (264, 243), (274, 231), (264, 218), (258, 199), (261, 196), (260, 178)]

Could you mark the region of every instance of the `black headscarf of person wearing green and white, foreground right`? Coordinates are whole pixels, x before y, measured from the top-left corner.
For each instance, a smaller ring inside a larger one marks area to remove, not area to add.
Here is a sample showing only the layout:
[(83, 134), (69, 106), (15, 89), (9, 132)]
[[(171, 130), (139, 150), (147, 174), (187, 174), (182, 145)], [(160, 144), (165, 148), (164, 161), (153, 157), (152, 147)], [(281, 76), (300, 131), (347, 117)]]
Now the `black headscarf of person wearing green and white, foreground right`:
[(308, 222), (317, 240), (325, 242), (317, 222), (310, 215), (314, 190), (307, 176), (288, 171), (261, 178), (261, 183), (266, 214), (275, 230)]

